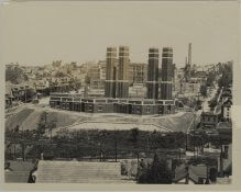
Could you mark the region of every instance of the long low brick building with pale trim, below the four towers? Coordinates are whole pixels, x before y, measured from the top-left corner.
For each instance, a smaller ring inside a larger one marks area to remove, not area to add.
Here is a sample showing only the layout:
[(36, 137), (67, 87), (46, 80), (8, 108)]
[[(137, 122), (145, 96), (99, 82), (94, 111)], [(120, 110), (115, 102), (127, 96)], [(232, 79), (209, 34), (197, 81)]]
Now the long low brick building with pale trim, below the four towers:
[(51, 108), (86, 113), (125, 113), (139, 115), (172, 114), (174, 100), (81, 98), (80, 94), (53, 93)]

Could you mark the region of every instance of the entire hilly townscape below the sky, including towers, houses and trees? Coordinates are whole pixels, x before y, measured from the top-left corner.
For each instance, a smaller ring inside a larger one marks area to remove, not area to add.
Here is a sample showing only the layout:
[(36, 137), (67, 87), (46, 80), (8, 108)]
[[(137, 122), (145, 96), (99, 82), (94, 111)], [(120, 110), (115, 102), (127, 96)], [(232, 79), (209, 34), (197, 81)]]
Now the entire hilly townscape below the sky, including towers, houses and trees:
[(194, 64), (191, 50), (185, 64), (172, 47), (135, 63), (119, 46), (6, 65), (6, 182), (231, 183), (233, 61)]

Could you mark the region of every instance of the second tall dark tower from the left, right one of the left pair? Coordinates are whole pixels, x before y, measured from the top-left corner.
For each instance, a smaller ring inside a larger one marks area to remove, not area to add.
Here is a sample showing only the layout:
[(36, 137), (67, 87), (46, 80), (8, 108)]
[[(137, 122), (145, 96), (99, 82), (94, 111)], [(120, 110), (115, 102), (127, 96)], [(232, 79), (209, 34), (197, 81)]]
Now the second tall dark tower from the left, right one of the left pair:
[(119, 47), (119, 61), (118, 61), (118, 80), (117, 80), (117, 98), (129, 97), (129, 79), (128, 66), (130, 63), (129, 47)]

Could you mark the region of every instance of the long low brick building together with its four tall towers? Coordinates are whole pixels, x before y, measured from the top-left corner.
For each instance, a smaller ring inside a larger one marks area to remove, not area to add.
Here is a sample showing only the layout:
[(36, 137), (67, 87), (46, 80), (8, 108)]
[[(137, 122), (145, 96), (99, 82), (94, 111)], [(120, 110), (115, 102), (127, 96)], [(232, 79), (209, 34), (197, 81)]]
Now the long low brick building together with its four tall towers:
[(83, 98), (79, 94), (53, 93), (52, 108), (88, 113), (172, 114), (175, 101), (172, 95), (173, 48), (162, 53), (162, 81), (158, 82), (158, 49), (149, 49), (147, 95), (143, 99), (129, 98), (128, 65), (129, 47), (107, 47), (105, 98)]

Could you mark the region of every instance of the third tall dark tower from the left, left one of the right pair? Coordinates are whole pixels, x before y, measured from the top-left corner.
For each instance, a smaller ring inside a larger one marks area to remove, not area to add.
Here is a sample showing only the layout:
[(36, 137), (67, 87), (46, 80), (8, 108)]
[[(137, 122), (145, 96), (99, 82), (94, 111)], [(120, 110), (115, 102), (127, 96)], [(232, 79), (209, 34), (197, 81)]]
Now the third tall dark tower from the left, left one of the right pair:
[(158, 99), (158, 48), (149, 49), (147, 99)]

